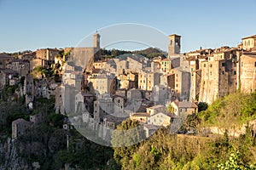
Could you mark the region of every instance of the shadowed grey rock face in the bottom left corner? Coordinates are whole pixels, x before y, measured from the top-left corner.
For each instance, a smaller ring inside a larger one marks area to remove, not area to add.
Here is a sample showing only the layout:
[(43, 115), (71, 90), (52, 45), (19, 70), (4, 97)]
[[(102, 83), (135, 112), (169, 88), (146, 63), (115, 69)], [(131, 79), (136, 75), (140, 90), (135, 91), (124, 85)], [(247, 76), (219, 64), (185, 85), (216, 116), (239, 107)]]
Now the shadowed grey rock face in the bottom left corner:
[(3, 139), (0, 142), (0, 169), (32, 169), (26, 159), (18, 155), (17, 144), (14, 139)]

